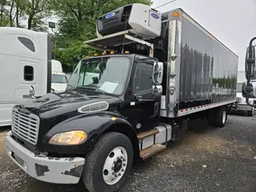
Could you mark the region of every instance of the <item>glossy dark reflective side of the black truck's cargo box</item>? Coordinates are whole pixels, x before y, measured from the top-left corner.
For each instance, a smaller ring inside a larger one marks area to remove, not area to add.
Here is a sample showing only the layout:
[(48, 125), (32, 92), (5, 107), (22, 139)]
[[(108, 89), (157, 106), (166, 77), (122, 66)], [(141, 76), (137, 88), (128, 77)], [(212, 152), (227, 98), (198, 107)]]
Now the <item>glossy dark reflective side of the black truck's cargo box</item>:
[(238, 56), (182, 9), (171, 10), (169, 20), (169, 58), (175, 58), (170, 59), (170, 86), (176, 88), (170, 116), (235, 102)]

